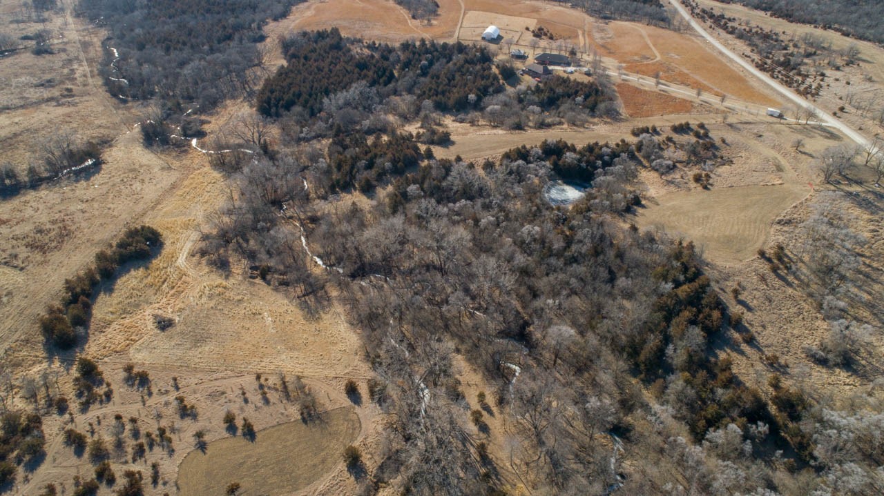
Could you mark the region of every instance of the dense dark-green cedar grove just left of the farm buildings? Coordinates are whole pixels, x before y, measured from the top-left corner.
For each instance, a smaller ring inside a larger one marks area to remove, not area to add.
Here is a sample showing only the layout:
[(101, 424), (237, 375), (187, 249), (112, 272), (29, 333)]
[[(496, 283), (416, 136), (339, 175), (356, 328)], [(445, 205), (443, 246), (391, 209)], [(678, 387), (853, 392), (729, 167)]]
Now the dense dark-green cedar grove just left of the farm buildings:
[(356, 82), (385, 94), (414, 94), (439, 110), (463, 110), (503, 89), (487, 50), (457, 43), (405, 41), (397, 47), (346, 39), (337, 28), (295, 34), (288, 63), (264, 82), (257, 109), (266, 116), (300, 108), (310, 116), (325, 97)]

